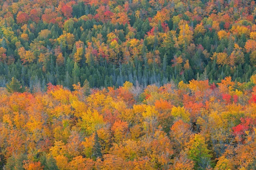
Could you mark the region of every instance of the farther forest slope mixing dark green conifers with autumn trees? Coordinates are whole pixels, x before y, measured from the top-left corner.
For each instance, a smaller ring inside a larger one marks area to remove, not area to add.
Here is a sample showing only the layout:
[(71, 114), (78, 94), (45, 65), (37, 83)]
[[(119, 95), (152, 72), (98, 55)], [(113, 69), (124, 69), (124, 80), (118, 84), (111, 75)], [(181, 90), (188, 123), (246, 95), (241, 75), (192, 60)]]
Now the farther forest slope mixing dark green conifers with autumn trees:
[(254, 0), (0, 0), (0, 87), (248, 82)]

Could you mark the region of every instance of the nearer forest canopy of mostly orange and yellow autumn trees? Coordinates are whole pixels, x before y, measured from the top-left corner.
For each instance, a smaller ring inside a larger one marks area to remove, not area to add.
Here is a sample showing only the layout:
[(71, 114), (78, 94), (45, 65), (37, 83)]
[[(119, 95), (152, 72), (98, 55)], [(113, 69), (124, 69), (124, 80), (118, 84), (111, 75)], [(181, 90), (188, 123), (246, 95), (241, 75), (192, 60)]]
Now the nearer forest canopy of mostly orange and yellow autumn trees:
[(4, 170), (255, 170), (256, 75), (0, 89)]

